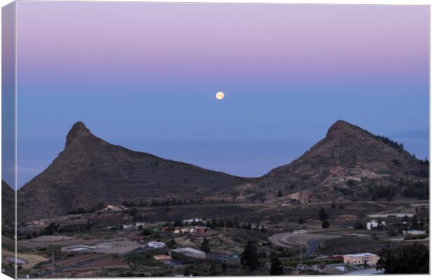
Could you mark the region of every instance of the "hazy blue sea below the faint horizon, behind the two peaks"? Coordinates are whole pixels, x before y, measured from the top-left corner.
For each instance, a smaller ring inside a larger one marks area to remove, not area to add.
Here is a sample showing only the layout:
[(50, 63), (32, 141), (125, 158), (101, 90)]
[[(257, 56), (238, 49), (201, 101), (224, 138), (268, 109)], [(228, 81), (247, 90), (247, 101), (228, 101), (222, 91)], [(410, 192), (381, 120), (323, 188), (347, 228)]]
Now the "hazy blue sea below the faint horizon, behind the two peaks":
[[(113, 144), (133, 151), (157, 155), (160, 158), (178, 160), (203, 168), (237, 176), (255, 177), (267, 174), (271, 169), (288, 165), (300, 157), (316, 139), (141, 139), (116, 140)], [(398, 139), (416, 158), (429, 157), (428, 139)], [(39, 141), (37, 141), (39, 142)], [(46, 145), (42, 142), (33, 144)], [(62, 150), (59, 146), (59, 151)], [(18, 159), (18, 186), (34, 178), (50, 165), (57, 155), (46, 155), (38, 149), (22, 151)]]

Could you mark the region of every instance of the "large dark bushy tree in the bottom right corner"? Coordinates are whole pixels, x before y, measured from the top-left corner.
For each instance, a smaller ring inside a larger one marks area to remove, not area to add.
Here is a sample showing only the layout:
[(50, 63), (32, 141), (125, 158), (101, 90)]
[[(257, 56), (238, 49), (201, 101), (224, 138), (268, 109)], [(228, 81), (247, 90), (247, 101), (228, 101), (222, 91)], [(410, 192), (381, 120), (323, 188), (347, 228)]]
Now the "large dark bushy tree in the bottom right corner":
[(418, 242), (393, 250), (385, 248), (380, 253), (377, 269), (384, 270), (384, 274), (428, 274), (428, 248)]

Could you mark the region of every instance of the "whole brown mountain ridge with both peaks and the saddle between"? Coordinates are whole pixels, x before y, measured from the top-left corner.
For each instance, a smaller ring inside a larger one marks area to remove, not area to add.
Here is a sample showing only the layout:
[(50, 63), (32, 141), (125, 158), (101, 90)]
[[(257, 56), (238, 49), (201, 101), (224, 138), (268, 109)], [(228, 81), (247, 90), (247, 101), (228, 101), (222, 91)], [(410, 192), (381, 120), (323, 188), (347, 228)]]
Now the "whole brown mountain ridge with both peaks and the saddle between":
[[(372, 188), (397, 185), (398, 179), (413, 182), (428, 178), (427, 167), (402, 145), (344, 120), (334, 123), (325, 138), (300, 158), (255, 178), (131, 151), (95, 137), (84, 123), (77, 122), (51, 165), (18, 190), (18, 220), (64, 215), (73, 209), (125, 200), (279, 202), (277, 190), (283, 191), (283, 199), (301, 202), (366, 198)], [(349, 186), (351, 180), (356, 182), (353, 186)], [(396, 189), (396, 195), (402, 193)]]

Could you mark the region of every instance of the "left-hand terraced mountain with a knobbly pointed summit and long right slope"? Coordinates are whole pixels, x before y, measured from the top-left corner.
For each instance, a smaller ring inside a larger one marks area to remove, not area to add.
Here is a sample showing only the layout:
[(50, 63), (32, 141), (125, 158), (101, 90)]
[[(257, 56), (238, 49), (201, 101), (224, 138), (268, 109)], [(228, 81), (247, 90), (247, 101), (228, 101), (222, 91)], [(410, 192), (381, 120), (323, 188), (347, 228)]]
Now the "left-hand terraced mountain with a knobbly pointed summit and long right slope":
[(109, 144), (78, 122), (66, 137), (64, 151), (18, 190), (18, 220), (125, 200), (228, 197), (234, 186), (248, 180)]

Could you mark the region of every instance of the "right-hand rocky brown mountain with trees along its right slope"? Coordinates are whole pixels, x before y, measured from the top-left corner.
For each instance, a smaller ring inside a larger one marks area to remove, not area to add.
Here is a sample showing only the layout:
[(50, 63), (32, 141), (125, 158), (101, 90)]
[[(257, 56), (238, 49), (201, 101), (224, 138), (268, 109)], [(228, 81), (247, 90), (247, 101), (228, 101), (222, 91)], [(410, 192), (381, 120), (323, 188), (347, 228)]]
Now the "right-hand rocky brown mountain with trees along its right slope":
[(272, 169), (257, 183), (283, 193), (309, 190), (317, 200), (370, 200), (372, 188), (395, 188), (399, 197), (400, 180), (428, 180), (428, 173), (428, 162), (414, 158), (399, 144), (338, 120), (304, 155)]

